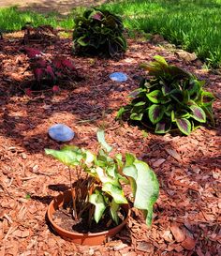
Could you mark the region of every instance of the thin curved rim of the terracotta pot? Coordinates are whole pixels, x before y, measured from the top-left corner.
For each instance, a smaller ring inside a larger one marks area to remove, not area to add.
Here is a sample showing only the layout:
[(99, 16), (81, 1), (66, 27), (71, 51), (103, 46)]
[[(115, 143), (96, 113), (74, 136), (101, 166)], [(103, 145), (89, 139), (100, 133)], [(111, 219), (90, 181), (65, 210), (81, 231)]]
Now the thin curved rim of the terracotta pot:
[[(66, 191), (60, 193), (59, 195), (62, 195), (64, 197), (65, 195), (65, 192), (68, 192), (70, 191), (70, 189), (67, 189)], [(65, 229), (63, 229), (61, 226), (57, 225), (53, 220), (52, 220), (52, 215), (50, 213), (50, 208), (52, 207), (52, 204), (54, 203), (54, 199), (57, 198), (59, 195), (55, 196), (52, 200), (52, 202), (49, 204), (48, 206), (48, 210), (47, 210), (47, 217), (49, 218), (49, 221), (51, 222), (52, 224), (52, 228), (54, 227), (55, 230), (58, 229), (60, 230), (61, 232), (63, 233), (67, 233), (67, 234), (70, 234), (70, 235), (73, 235), (73, 234), (76, 234), (80, 237), (93, 237), (93, 236), (98, 236), (98, 235), (102, 235), (102, 234), (107, 234), (107, 233), (112, 233), (115, 229), (120, 229), (121, 227), (125, 226), (125, 223), (127, 222), (129, 216), (130, 216), (130, 207), (129, 207), (129, 203), (124, 203), (124, 204), (121, 204), (121, 206), (123, 207), (123, 209), (125, 209), (125, 219), (121, 222), (121, 224), (107, 230), (107, 231), (102, 231), (102, 232), (97, 232), (97, 233), (78, 233), (78, 232), (70, 232), (70, 231), (67, 231)], [(53, 229), (54, 229), (53, 228)]]

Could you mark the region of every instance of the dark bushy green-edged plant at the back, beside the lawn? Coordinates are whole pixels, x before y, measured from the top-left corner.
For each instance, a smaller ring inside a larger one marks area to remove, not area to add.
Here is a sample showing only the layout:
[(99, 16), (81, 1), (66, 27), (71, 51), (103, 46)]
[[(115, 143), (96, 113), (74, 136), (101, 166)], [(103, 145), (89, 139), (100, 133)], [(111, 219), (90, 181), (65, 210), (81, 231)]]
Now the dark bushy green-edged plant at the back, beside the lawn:
[(120, 17), (108, 10), (90, 8), (75, 20), (74, 52), (83, 55), (115, 56), (124, 53), (126, 41)]

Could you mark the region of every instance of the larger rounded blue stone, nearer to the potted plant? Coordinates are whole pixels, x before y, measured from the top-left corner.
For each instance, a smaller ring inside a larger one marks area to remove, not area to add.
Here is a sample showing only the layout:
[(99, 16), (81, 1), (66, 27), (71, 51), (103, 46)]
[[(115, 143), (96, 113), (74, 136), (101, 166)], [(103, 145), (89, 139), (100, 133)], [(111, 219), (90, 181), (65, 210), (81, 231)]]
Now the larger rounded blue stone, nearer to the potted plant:
[(53, 125), (48, 132), (52, 140), (58, 143), (66, 143), (74, 138), (74, 131), (63, 124)]

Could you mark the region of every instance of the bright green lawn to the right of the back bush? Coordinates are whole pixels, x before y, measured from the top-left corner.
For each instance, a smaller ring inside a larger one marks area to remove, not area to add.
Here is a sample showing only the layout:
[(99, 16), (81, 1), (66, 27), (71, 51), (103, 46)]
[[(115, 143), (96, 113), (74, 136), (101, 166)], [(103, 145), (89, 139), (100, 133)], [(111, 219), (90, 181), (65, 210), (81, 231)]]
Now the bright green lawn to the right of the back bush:
[(221, 0), (140, 0), (103, 6), (124, 17), (125, 26), (157, 33), (221, 67)]

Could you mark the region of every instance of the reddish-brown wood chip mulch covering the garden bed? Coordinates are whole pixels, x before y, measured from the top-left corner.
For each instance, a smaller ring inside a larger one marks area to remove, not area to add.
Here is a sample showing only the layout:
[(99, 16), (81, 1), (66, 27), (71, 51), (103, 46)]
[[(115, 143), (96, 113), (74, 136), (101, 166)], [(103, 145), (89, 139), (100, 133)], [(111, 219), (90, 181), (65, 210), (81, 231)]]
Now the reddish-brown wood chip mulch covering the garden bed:
[[(43, 46), (44, 53), (70, 57), (84, 77), (59, 95), (29, 98), (20, 87), (32, 79), (21, 38), (0, 42), (0, 255), (220, 255), (220, 110), (221, 78), (199, 62), (186, 64), (172, 51), (145, 40), (128, 40), (121, 60), (76, 57), (71, 39)], [(120, 106), (144, 75), (139, 64), (155, 54), (194, 72), (216, 97), (215, 128), (199, 128), (190, 136), (144, 132), (115, 121)], [(109, 75), (124, 71), (125, 83)], [(66, 167), (48, 158), (44, 148), (59, 148), (47, 134), (55, 123), (76, 132), (70, 144), (96, 151), (96, 130), (104, 128), (115, 152), (127, 151), (147, 161), (160, 183), (155, 219), (147, 229), (140, 212), (132, 211), (127, 227), (105, 245), (82, 247), (57, 236), (46, 223), (52, 197), (68, 188)]]

